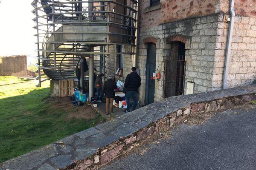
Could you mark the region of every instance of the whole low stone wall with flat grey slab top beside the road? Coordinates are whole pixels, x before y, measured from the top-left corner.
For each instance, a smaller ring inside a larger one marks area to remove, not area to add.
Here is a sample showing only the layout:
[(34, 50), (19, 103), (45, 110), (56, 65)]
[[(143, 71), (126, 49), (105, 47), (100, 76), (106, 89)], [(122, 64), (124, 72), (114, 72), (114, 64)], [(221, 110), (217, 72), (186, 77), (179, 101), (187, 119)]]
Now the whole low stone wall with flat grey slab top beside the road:
[(173, 96), (0, 164), (0, 170), (96, 169), (191, 113), (224, 111), (256, 99), (256, 85)]

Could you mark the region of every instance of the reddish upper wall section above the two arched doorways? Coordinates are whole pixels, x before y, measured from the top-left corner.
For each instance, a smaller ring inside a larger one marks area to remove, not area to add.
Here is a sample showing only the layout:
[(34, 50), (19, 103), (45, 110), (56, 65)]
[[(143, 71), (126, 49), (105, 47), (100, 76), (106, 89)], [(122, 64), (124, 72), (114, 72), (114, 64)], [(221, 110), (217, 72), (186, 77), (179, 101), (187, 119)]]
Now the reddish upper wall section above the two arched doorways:
[(159, 6), (150, 7), (150, 0), (142, 0), (140, 3), (140, 25), (141, 27), (151, 27), (184, 18), (214, 14), (216, 8), (219, 8), (218, 4), (219, 0), (204, 0), (203, 2), (161, 0)]

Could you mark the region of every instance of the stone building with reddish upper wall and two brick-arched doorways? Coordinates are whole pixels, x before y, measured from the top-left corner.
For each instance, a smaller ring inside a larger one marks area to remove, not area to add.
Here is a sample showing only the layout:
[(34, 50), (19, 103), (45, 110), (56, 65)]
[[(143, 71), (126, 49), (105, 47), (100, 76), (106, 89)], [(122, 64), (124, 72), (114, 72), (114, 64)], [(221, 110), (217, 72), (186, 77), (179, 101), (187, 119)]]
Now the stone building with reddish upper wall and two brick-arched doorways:
[[(137, 56), (106, 57), (107, 74), (123, 68), (123, 76), (116, 78), (124, 81), (136, 66), (142, 78), (141, 105), (222, 89), (225, 63), (227, 88), (252, 84), (256, 79), (256, 0), (234, 0), (233, 8), (235, 17), (229, 0), (140, 0)], [(121, 45), (111, 48), (129, 50)], [(153, 73), (161, 77), (154, 79)]]

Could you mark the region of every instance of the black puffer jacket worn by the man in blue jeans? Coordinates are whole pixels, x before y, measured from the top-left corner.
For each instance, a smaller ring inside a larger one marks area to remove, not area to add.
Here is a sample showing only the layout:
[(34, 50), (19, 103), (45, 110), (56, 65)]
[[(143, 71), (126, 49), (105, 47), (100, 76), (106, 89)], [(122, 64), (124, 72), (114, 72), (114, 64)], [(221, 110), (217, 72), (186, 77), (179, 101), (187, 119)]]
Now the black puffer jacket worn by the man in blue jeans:
[(135, 71), (128, 74), (125, 79), (126, 91), (138, 91), (138, 88), (140, 87), (140, 81), (140, 76)]

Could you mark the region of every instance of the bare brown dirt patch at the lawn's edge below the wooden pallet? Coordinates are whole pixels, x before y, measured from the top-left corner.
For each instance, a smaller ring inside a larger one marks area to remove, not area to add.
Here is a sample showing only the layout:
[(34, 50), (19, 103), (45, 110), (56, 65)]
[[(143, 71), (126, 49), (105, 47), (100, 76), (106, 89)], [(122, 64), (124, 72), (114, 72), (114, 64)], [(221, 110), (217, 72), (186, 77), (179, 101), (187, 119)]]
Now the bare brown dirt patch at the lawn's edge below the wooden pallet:
[(93, 119), (96, 117), (97, 112), (94, 108), (92, 108), (86, 103), (82, 106), (74, 106), (70, 97), (51, 97), (47, 99), (50, 104), (50, 110), (54, 110), (55, 112), (67, 111), (67, 119), (75, 118), (75, 119)]

